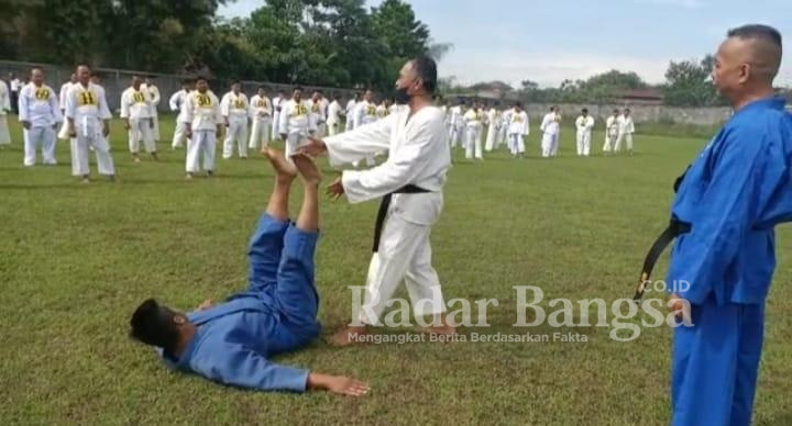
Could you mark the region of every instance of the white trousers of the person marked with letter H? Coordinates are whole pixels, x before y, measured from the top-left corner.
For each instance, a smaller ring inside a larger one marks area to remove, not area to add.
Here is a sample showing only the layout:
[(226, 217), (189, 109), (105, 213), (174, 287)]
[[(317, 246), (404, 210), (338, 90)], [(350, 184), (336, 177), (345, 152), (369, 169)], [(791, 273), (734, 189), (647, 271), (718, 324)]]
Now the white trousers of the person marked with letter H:
[(72, 139), (72, 175), (90, 175), (88, 150), (92, 147), (97, 157), (99, 175), (113, 176), (116, 167), (110, 156), (110, 144), (102, 134), (102, 122), (84, 116), (75, 122), (77, 137)]

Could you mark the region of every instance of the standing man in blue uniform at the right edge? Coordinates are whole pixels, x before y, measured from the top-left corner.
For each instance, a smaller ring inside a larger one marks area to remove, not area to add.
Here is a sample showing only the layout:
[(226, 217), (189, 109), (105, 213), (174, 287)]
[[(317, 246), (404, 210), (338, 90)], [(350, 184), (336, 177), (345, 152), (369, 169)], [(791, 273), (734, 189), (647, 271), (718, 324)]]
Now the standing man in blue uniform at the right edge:
[(671, 209), (689, 231), (667, 282), (678, 283), (674, 311), (693, 323), (674, 330), (673, 425), (750, 424), (773, 227), (792, 220), (792, 116), (772, 88), (781, 45), (769, 26), (729, 31), (712, 77), (735, 113), (693, 161)]

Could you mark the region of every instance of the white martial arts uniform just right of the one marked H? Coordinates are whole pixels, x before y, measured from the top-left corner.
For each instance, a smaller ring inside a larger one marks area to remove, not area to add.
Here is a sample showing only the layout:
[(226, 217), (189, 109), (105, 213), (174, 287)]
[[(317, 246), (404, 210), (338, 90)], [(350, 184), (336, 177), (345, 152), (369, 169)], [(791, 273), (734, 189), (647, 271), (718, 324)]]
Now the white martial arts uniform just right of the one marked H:
[(142, 86), (138, 90), (129, 87), (121, 93), (121, 119), (129, 121), (130, 128), (127, 134), (132, 154), (140, 153), (141, 141), (146, 153), (156, 153), (153, 108), (151, 91), (143, 90)]

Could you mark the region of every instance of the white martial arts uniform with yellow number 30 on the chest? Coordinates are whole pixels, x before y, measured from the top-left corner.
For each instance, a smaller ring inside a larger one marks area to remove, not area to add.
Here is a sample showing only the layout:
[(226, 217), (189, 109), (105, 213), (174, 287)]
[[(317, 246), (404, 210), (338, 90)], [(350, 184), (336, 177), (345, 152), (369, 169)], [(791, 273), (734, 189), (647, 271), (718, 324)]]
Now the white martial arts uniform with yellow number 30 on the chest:
[(200, 171), (200, 156), (204, 154), (204, 170), (215, 170), (215, 145), (218, 125), (222, 125), (220, 101), (211, 90), (204, 93), (191, 91), (185, 99), (185, 120), (193, 131), (187, 141), (185, 170), (188, 173)]

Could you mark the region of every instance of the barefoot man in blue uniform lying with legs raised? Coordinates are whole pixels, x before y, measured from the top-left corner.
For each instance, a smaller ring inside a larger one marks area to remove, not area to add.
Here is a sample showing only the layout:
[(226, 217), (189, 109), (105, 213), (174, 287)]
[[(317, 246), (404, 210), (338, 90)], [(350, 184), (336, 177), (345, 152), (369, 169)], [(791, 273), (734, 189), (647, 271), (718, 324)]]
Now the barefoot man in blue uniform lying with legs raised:
[[(226, 303), (207, 301), (186, 315), (146, 300), (132, 315), (130, 335), (157, 347), (168, 367), (223, 384), (362, 396), (366, 383), (270, 361), (319, 335), (314, 253), (321, 173), (305, 155), (293, 156), (292, 164), (274, 149), (265, 154), (276, 170), (275, 188), (250, 242), (250, 287)], [(297, 222), (289, 223), (289, 189), (298, 171), (305, 183), (302, 206)]]

